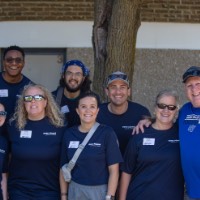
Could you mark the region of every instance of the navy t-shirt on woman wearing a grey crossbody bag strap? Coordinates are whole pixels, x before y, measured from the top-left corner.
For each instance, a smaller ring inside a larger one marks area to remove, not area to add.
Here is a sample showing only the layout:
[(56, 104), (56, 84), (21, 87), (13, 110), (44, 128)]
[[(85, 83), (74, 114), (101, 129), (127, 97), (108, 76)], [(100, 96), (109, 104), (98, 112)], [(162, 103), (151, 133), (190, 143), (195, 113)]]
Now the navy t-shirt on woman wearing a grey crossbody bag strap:
[[(64, 134), (61, 167), (73, 157), (87, 133), (71, 127)], [(83, 185), (108, 183), (108, 166), (122, 162), (117, 137), (111, 127), (100, 125), (81, 152), (72, 170), (72, 180)]]

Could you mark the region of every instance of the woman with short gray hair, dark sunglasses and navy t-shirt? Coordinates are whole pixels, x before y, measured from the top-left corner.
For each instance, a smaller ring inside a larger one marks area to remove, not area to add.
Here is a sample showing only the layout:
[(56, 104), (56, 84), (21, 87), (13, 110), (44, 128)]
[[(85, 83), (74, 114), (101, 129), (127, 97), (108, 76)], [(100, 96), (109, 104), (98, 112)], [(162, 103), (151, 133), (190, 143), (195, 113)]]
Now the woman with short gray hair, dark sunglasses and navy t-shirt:
[(119, 200), (183, 200), (178, 127), (178, 97), (161, 91), (155, 101), (155, 119), (143, 134), (130, 140), (122, 164)]

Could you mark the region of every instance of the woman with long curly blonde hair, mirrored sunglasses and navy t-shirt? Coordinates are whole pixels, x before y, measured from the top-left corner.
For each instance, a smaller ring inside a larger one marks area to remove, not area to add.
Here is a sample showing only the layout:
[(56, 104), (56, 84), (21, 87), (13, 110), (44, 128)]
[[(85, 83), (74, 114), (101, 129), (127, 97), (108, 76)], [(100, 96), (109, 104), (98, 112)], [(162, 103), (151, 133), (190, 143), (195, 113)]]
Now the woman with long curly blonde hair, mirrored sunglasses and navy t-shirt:
[(8, 131), (11, 143), (10, 200), (58, 200), (59, 158), (65, 126), (51, 93), (28, 85), (18, 99)]

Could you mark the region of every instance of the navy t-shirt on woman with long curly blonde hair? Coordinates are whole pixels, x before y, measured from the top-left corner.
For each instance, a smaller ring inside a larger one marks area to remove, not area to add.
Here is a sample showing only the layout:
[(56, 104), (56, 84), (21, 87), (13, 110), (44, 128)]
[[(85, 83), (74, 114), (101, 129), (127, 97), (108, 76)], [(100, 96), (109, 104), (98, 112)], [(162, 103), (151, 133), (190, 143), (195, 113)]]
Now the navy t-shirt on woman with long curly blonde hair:
[(64, 130), (65, 127), (52, 125), (48, 118), (28, 120), (21, 131), (15, 123), (8, 127), (11, 141), (8, 190), (12, 198), (60, 198), (60, 151)]

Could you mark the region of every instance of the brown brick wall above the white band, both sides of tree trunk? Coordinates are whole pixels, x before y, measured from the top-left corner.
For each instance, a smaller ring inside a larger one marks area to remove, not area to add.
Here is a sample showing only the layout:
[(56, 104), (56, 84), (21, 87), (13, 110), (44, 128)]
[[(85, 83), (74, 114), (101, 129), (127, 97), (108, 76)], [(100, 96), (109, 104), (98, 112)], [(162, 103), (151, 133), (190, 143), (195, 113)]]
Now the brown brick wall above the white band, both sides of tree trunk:
[[(200, 0), (144, 0), (142, 21), (200, 22)], [(93, 0), (1, 0), (0, 21), (93, 20)]]

